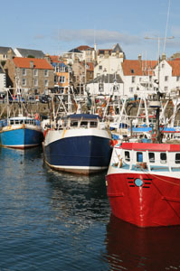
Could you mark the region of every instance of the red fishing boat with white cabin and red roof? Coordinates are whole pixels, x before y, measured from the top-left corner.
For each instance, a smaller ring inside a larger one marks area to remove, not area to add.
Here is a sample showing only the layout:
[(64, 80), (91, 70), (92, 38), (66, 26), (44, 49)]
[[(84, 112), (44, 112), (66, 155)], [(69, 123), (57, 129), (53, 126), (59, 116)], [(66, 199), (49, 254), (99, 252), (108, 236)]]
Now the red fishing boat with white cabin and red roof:
[(138, 227), (180, 225), (180, 145), (115, 145), (107, 185), (119, 219)]

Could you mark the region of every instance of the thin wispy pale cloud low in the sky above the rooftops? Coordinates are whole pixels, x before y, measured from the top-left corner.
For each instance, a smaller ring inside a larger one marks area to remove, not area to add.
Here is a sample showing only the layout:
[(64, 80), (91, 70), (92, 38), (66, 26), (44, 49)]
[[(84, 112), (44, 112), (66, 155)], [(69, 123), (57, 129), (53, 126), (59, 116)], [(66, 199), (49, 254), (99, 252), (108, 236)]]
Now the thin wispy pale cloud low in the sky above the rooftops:
[(58, 33), (54, 34), (54, 39), (61, 42), (86, 42), (92, 44), (97, 42), (98, 44), (104, 44), (108, 42), (120, 42), (121, 44), (139, 43), (141, 38), (138, 36), (128, 35), (126, 33), (119, 33), (116, 31), (108, 30), (93, 30), (93, 29), (81, 29), (70, 30), (60, 29)]

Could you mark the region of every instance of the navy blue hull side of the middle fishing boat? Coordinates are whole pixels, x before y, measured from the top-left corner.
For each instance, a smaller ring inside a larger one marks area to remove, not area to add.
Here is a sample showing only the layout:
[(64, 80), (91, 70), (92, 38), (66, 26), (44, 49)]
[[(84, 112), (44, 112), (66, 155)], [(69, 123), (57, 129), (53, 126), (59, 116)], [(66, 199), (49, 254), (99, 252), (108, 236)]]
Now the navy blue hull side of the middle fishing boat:
[(111, 147), (108, 138), (74, 136), (44, 146), (44, 155), (53, 166), (108, 167)]

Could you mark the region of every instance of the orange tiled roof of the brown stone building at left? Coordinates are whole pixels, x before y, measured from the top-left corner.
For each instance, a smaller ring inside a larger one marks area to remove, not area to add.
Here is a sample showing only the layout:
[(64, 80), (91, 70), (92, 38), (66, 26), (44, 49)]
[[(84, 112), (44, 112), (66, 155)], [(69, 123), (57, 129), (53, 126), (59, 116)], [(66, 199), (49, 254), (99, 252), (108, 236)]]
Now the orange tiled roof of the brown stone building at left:
[(19, 58), (14, 57), (14, 65), (18, 68), (30, 69), (30, 62), (33, 61), (33, 68), (39, 70), (53, 70), (52, 65), (45, 59)]

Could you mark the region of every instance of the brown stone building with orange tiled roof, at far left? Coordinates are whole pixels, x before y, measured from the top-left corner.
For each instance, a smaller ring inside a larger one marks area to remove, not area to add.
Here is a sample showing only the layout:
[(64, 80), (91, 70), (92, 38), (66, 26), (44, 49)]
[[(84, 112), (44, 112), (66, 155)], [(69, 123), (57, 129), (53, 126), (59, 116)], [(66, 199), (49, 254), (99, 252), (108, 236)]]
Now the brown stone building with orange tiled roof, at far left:
[(7, 59), (4, 68), (7, 87), (20, 87), (34, 94), (41, 94), (54, 87), (53, 67), (45, 59), (11, 57)]

